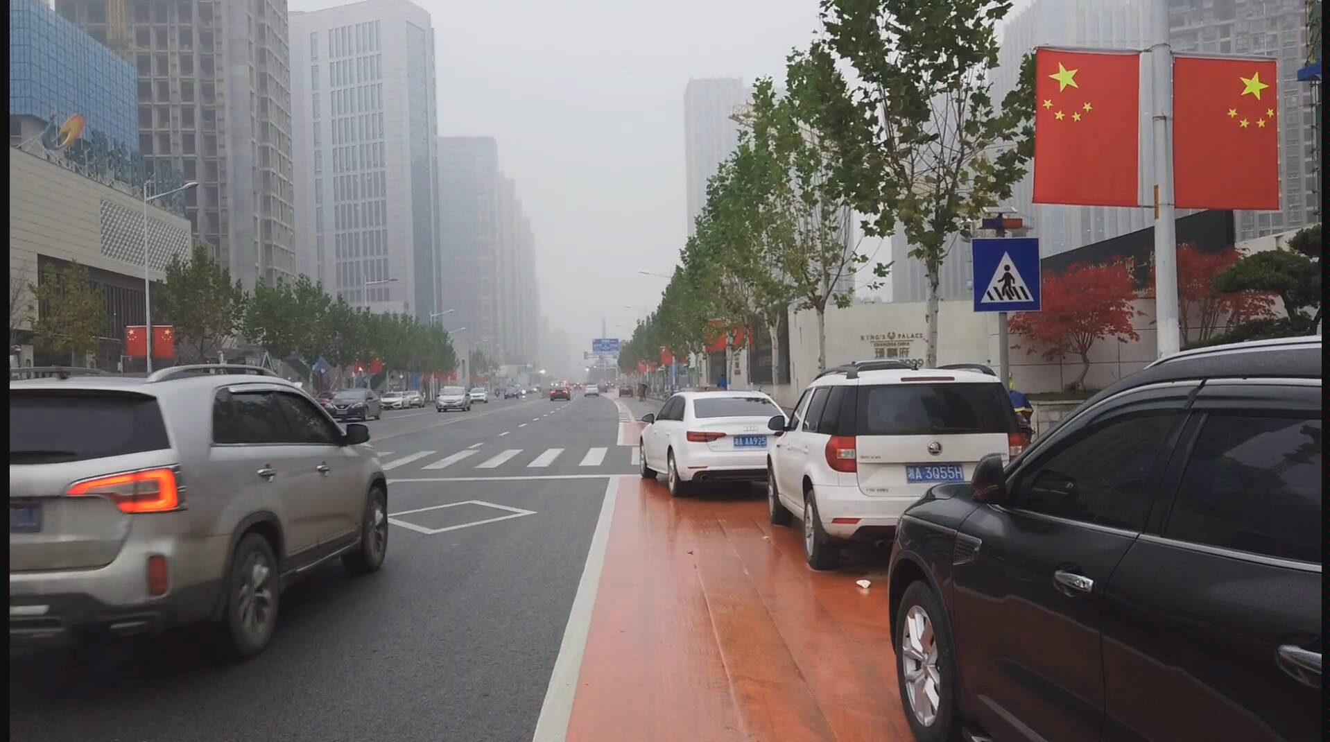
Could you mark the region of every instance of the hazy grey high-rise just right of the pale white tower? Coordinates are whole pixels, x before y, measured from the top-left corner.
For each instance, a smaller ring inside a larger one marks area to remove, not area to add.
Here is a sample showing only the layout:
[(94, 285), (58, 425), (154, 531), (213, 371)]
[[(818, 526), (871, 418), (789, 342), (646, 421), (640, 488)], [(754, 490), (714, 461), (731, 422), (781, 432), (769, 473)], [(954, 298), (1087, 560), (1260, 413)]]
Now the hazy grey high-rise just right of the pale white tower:
[(439, 137), (439, 311), (503, 363), (537, 356), (536, 247), (491, 137)]

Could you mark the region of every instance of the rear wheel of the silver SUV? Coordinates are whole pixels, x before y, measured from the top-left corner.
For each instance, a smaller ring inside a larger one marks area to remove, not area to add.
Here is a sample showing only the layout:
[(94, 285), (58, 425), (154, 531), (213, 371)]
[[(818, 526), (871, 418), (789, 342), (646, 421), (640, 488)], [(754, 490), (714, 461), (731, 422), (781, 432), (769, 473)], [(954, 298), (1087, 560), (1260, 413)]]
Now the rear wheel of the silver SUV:
[(235, 545), (225, 580), (221, 649), (233, 660), (249, 660), (267, 649), (277, 628), (281, 574), (273, 545), (258, 533), (247, 533)]

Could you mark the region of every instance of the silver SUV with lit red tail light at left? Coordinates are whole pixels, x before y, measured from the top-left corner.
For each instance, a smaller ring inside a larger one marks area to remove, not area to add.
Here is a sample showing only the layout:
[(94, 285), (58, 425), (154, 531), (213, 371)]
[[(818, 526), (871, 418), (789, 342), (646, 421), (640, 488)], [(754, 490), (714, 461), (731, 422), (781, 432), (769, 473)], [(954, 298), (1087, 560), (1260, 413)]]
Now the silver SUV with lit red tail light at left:
[(263, 368), (11, 379), (11, 649), (202, 622), (258, 654), (294, 578), (383, 564), (367, 440)]

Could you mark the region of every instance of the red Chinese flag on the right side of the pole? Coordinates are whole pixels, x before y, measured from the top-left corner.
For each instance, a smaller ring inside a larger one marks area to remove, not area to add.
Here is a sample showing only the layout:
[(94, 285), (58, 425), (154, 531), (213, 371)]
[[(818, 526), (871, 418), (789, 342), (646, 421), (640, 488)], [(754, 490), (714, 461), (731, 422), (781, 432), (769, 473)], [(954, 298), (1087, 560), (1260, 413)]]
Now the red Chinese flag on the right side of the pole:
[(1178, 209), (1279, 209), (1274, 60), (1173, 62), (1173, 201)]

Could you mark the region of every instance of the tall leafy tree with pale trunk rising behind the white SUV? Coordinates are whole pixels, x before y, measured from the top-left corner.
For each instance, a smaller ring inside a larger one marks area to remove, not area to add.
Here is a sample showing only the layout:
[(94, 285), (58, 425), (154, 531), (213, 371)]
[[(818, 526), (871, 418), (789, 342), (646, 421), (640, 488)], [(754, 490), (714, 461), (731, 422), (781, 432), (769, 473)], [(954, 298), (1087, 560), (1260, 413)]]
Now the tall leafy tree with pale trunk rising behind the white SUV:
[[(787, 85), (835, 157), (830, 186), (866, 231), (902, 231), (928, 282), (927, 364), (954, 235), (1009, 198), (1033, 154), (1033, 56), (996, 106), (995, 27), (1011, 0), (822, 0), (825, 33), (790, 59)], [(879, 269), (879, 275), (884, 271)]]

